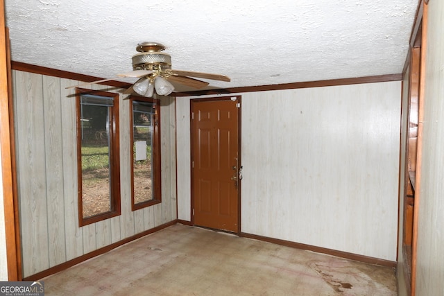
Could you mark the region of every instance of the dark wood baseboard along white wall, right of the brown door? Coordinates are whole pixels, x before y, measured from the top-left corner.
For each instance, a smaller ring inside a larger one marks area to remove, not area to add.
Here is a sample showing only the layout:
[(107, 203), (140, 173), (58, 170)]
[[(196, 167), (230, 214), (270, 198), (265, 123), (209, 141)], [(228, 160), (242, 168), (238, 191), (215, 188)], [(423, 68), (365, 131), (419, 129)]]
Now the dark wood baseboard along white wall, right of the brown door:
[(359, 254), (353, 254), (353, 253), (348, 253), (348, 252), (327, 249), (326, 247), (316, 247), (314, 245), (305, 245), (303, 243), (294, 243), (292, 241), (284, 241), (284, 240), (278, 239), (278, 238), (269, 238), (266, 236), (258, 236), (256, 234), (247, 234), (245, 232), (241, 232), (241, 234), (239, 234), (239, 236), (257, 239), (259, 241), (266, 241), (268, 243), (275, 243), (276, 245), (284, 245), (286, 247), (295, 247), (296, 249), (308, 250), (311, 252), (322, 253), (322, 254), (328, 254), (328, 255), (332, 255), (332, 256), (337, 256), (337, 257), (341, 257), (341, 258), (345, 258), (345, 259), (355, 260), (355, 261), (374, 264), (374, 265), (388, 266), (391, 268), (396, 267), (396, 262), (393, 262), (393, 261), (388, 261), (388, 260), (384, 260), (384, 259), (363, 256), (363, 255), (359, 255)]

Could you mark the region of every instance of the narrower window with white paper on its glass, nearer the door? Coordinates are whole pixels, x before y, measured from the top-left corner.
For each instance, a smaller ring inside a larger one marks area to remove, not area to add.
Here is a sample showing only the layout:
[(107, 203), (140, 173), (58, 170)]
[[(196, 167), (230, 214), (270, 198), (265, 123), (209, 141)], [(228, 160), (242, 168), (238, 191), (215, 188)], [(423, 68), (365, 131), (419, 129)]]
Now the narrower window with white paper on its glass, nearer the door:
[(132, 209), (161, 202), (160, 192), (160, 104), (131, 98), (131, 184)]

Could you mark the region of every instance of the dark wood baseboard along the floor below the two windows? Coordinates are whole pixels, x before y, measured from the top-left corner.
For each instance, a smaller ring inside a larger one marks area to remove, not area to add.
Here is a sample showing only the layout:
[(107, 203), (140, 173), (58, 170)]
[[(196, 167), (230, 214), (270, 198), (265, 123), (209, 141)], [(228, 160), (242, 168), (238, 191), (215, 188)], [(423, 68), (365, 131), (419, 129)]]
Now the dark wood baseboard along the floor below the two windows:
[(139, 234), (135, 234), (134, 236), (130, 236), (128, 238), (124, 238), (121, 241), (118, 241), (116, 243), (112, 243), (111, 245), (107, 245), (105, 247), (101, 247), (98, 250), (89, 252), (87, 254), (84, 254), (82, 256), (79, 256), (77, 258), (71, 259), (65, 263), (53, 266), (52, 268), (49, 268), (47, 270), (43, 270), (41, 272), (36, 273), (35, 275), (30, 275), (29, 277), (25, 277), (24, 281), (37, 281), (39, 279), (43, 279), (44, 277), (48, 277), (49, 275), (53, 275), (56, 272), (60, 272), (62, 270), (65, 270), (67, 268), (70, 268), (74, 265), (77, 265), (78, 263), (82, 263), (83, 261), (86, 261), (88, 259), (94, 258), (96, 256), (99, 256), (101, 254), (105, 254), (106, 252), (110, 252), (111, 250), (115, 249), (116, 247), (120, 247), (121, 245), (125, 245), (126, 243), (130, 243), (131, 241), (135, 241), (138, 238), (142, 238), (143, 236), (146, 236), (148, 234), (153, 234), (154, 232), (158, 232), (164, 228), (167, 228), (171, 225), (175, 225), (177, 223), (177, 220), (173, 220), (169, 223), (165, 223), (162, 225), (159, 225), (157, 227), (154, 227), (152, 229), (148, 229), (144, 232), (141, 232)]

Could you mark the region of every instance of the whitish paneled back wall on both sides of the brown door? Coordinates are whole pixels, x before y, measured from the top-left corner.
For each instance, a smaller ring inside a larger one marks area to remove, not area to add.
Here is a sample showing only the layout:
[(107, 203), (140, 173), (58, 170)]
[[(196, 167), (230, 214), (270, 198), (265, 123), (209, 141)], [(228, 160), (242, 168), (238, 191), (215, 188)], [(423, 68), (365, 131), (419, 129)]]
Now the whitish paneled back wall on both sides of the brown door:
[(396, 261), (400, 94), (400, 81), (241, 94), (241, 232)]

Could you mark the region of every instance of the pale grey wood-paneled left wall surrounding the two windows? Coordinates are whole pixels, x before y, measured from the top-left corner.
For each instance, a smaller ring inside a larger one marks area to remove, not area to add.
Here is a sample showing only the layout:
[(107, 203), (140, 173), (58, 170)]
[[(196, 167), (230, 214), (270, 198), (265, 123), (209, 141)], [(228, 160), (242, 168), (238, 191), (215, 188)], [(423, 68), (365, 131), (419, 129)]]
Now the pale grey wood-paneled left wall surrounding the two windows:
[[(162, 203), (131, 211), (130, 106), (119, 101), (121, 216), (78, 227), (78, 81), (12, 71), (24, 277), (176, 219), (176, 116), (162, 101)], [(93, 85), (92, 89), (121, 89)]]

